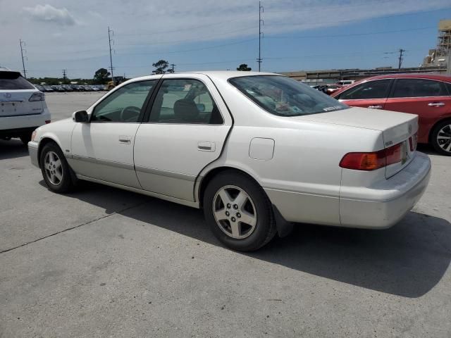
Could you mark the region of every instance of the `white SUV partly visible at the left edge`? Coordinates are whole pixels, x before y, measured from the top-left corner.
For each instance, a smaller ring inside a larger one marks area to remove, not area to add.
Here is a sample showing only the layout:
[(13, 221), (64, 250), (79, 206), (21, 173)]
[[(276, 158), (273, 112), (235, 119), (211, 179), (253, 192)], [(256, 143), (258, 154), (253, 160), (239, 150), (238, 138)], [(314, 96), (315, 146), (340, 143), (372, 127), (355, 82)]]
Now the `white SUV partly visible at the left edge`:
[(44, 93), (19, 72), (0, 67), (0, 139), (20, 137), (27, 144), (33, 130), (50, 123)]

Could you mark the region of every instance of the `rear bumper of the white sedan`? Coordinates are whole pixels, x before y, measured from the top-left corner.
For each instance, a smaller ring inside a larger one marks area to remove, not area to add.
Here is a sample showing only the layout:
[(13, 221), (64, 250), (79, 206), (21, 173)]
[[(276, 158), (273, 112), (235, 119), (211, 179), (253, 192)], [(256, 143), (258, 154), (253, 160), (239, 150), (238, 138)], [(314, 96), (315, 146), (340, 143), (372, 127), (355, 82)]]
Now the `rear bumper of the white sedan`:
[(364, 189), (362, 198), (340, 192), (340, 224), (343, 227), (385, 229), (399, 222), (419, 201), (431, 176), (431, 160), (417, 153), (400, 173)]

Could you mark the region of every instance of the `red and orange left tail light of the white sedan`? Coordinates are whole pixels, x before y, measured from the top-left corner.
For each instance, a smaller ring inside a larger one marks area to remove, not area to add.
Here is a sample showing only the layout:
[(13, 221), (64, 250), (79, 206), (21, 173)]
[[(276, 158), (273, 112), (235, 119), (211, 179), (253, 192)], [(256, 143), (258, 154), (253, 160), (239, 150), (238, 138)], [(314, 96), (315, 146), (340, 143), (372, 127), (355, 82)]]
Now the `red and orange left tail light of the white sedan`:
[(376, 170), (402, 161), (402, 143), (371, 153), (348, 153), (340, 161), (340, 167), (354, 170)]

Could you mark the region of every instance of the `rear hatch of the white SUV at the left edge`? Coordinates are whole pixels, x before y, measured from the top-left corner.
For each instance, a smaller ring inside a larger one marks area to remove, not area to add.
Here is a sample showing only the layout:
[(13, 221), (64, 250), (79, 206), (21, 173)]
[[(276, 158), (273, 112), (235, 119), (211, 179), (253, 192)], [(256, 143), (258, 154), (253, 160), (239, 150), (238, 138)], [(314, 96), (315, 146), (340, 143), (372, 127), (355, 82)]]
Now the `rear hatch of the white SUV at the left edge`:
[(44, 111), (41, 99), (30, 101), (39, 92), (18, 72), (0, 71), (0, 117), (37, 115)]

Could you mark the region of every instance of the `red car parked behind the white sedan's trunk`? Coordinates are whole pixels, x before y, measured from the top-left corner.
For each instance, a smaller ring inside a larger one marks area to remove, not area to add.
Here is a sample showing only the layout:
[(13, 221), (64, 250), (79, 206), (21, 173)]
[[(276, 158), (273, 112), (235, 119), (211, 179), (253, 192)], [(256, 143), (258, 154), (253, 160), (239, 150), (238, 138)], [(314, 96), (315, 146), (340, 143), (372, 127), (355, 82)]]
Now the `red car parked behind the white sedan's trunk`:
[(451, 77), (393, 74), (369, 77), (331, 95), (348, 106), (419, 115), (418, 142), (451, 156)]

